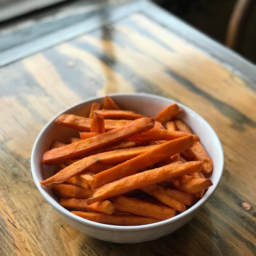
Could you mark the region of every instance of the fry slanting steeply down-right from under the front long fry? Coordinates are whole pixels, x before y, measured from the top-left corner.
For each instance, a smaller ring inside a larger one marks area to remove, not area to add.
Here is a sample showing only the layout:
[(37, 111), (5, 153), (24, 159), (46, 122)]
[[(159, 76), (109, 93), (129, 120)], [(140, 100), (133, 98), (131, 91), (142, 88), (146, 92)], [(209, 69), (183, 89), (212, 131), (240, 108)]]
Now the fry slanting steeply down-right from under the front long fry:
[(176, 211), (179, 211), (179, 212), (186, 211), (185, 204), (182, 204), (181, 202), (175, 200), (174, 198), (166, 195), (164, 193), (164, 188), (157, 184), (152, 184), (152, 185), (140, 188), (140, 190), (148, 193), (150, 196), (155, 197), (157, 200), (172, 207)]

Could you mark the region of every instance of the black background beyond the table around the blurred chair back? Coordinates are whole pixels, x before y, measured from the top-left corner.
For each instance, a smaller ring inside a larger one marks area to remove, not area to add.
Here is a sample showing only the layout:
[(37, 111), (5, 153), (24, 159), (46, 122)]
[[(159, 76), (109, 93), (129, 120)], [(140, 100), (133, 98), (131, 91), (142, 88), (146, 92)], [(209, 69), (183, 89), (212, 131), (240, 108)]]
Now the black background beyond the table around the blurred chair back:
[[(156, 0), (164, 9), (225, 44), (228, 21), (236, 0)], [(256, 63), (256, 1), (238, 52)]]

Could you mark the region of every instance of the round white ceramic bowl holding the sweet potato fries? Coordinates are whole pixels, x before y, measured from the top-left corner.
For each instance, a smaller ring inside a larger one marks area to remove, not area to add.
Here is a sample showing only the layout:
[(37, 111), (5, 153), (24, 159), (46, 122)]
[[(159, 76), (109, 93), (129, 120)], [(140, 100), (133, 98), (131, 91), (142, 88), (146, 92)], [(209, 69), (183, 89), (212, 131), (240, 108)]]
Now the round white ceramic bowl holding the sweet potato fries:
[[(145, 93), (112, 94), (110, 96), (123, 109), (133, 110), (146, 116), (155, 116), (160, 110), (174, 103), (173, 100)], [(88, 116), (92, 102), (96, 101), (103, 104), (103, 100), (104, 97), (88, 98), (85, 101), (64, 110), (57, 116), (63, 113)], [(39, 183), (40, 181), (52, 176), (52, 172), (54, 170), (51, 166), (43, 166), (41, 164), (41, 157), (43, 156), (44, 152), (49, 150), (52, 141), (60, 140), (67, 142), (69, 137), (77, 134), (77, 131), (74, 131), (73, 129), (55, 124), (54, 120), (57, 116), (54, 116), (52, 120), (44, 126), (36, 138), (32, 150), (31, 170), (38, 190), (48, 201), (48, 203), (51, 204), (52, 207), (57, 210), (60, 216), (71, 226), (77, 228), (86, 235), (93, 236), (101, 240), (115, 243), (138, 243), (154, 240), (171, 234), (176, 229), (180, 228), (191, 220), (195, 216), (196, 212), (213, 194), (220, 182), (224, 162), (220, 140), (218, 139), (216, 133), (212, 130), (211, 126), (193, 110), (181, 104), (179, 105), (184, 110), (184, 113), (180, 114), (179, 117), (188, 123), (193, 131), (199, 135), (201, 143), (209, 156), (212, 158), (214, 164), (213, 172), (209, 175), (213, 185), (207, 190), (204, 197), (187, 211), (182, 212), (169, 220), (163, 220), (157, 223), (142, 226), (126, 227), (101, 224), (90, 220), (85, 220), (66, 210), (59, 204), (58, 198), (54, 195), (51, 189), (44, 187)]]

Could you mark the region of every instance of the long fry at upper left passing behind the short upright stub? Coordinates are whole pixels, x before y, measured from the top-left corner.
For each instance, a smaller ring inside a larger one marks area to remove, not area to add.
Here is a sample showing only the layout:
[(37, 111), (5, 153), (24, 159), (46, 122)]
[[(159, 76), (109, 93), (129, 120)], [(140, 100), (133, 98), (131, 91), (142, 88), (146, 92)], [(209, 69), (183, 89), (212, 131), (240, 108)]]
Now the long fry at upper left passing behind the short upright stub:
[[(71, 127), (78, 131), (90, 132), (92, 119), (83, 116), (62, 114), (56, 118), (55, 122), (60, 125)], [(105, 131), (110, 131), (130, 123), (132, 123), (132, 120), (105, 119)], [(154, 128), (163, 129), (164, 126), (161, 123), (156, 122)]]

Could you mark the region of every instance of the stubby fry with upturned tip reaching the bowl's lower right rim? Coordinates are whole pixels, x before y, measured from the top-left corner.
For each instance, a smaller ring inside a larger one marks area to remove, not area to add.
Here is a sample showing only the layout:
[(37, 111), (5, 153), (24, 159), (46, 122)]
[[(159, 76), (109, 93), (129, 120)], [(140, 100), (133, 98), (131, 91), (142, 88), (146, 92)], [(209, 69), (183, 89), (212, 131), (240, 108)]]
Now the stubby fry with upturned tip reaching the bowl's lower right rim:
[[(191, 162), (187, 162), (187, 163), (191, 163)], [(183, 175), (181, 177), (172, 179), (172, 182), (176, 189), (183, 192), (187, 192), (189, 194), (195, 194), (196, 192), (199, 192), (203, 189), (206, 189), (212, 186), (212, 181), (210, 179), (203, 179), (203, 178), (196, 179), (189, 175)]]

